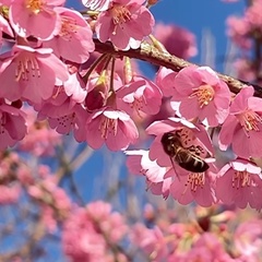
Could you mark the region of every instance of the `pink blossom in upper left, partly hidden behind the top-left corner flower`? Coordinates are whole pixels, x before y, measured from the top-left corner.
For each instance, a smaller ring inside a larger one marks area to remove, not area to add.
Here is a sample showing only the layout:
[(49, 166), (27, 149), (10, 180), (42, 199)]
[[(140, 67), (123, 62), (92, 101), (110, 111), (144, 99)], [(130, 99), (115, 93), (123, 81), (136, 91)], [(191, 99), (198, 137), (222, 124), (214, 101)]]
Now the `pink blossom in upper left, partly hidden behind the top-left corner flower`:
[(60, 15), (61, 28), (53, 38), (44, 41), (44, 47), (52, 48), (57, 57), (78, 63), (85, 62), (95, 49), (90, 25), (76, 11), (66, 8), (56, 8), (55, 11)]

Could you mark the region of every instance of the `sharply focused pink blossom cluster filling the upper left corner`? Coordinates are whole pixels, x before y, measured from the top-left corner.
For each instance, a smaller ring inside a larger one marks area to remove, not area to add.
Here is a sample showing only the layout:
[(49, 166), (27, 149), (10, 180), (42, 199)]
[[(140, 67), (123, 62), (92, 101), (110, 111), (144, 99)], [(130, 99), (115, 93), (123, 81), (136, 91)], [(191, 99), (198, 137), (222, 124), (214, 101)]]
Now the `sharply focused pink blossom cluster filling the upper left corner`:
[[(143, 110), (141, 105), (152, 99), (154, 93), (160, 104), (160, 92), (153, 83), (112, 73), (112, 58), (102, 56), (94, 62), (96, 66), (90, 63), (95, 50), (93, 37), (103, 43), (110, 40), (121, 50), (140, 47), (154, 25), (144, 1), (83, 1), (91, 11), (98, 12), (95, 17), (83, 16), (64, 3), (1, 1), (2, 150), (32, 132), (27, 128), (28, 109), (22, 107), (25, 104), (38, 112), (38, 121), (47, 119), (58, 133), (72, 131), (78, 142), (87, 141), (94, 148), (105, 142), (115, 151), (127, 148), (138, 139), (134, 121), (123, 109), (126, 105)], [(115, 81), (110, 81), (110, 75)], [(148, 87), (144, 87), (145, 83)], [(132, 92), (127, 92), (131, 85)], [(129, 100), (133, 94), (133, 100)], [(144, 110), (154, 114), (155, 108)], [(21, 148), (29, 148), (29, 143), (27, 140)]]

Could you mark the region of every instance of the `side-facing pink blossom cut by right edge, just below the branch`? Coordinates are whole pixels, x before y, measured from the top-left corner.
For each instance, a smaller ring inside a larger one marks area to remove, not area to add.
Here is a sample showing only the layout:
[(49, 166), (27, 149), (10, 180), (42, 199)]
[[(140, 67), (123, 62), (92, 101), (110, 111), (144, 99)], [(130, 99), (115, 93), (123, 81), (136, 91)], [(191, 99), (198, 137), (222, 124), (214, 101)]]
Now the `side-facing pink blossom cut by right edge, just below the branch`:
[(240, 157), (262, 155), (262, 99), (253, 97), (253, 87), (242, 88), (230, 106), (230, 112), (219, 133), (219, 147), (230, 144)]

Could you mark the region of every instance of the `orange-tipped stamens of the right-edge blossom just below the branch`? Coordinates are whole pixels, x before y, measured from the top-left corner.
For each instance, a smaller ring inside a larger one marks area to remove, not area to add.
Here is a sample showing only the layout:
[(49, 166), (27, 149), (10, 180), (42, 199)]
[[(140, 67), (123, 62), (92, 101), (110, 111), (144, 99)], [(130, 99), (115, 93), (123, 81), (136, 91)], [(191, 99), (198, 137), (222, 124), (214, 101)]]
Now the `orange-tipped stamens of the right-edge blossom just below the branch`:
[(260, 131), (259, 123), (262, 122), (262, 118), (257, 112), (247, 110), (240, 114), (238, 119), (247, 135), (249, 131)]

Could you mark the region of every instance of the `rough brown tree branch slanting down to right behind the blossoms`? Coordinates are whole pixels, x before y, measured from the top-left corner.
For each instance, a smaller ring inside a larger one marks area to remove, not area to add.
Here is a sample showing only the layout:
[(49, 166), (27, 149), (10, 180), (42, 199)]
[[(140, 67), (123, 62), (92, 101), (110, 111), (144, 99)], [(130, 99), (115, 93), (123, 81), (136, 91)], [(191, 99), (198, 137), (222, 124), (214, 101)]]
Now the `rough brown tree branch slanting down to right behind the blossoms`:
[[(139, 49), (130, 49), (127, 51), (117, 50), (112, 46), (112, 44), (109, 41), (100, 43), (98, 39), (94, 39), (94, 43), (95, 43), (95, 49), (98, 52), (110, 53), (116, 57), (126, 56), (126, 57), (130, 57), (130, 58), (136, 58), (140, 60), (156, 64), (156, 66), (166, 67), (168, 69), (171, 69), (175, 72), (179, 72), (181, 69), (193, 64), (181, 58), (172, 56), (169, 52), (162, 52), (147, 43), (142, 43), (141, 47)], [(233, 93), (235, 93), (235, 94), (239, 93), (240, 90), (245, 85), (252, 85), (254, 87), (254, 96), (262, 98), (262, 87), (261, 86), (231, 78), (226, 74), (222, 74), (218, 72), (216, 72), (216, 73), (217, 73), (218, 78), (228, 85), (229, 90)]]

